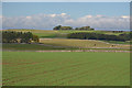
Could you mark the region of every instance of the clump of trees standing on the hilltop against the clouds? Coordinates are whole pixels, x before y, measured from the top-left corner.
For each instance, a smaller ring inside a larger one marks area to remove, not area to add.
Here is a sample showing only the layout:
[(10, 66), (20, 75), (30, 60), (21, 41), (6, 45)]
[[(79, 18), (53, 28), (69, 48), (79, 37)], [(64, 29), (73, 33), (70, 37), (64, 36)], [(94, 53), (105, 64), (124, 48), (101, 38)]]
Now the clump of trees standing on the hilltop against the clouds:
[(88, 30), (88, 31), (94, 31), (95, 29), (91, 29), (90, 26), (82, 26), (82, 28), (73, 29), (72, 26), (57, 25), (53, 30)]

